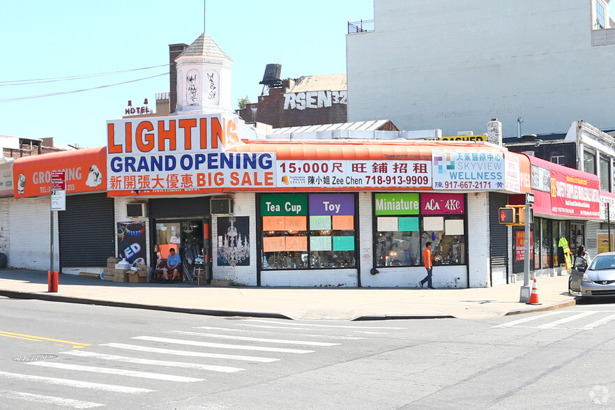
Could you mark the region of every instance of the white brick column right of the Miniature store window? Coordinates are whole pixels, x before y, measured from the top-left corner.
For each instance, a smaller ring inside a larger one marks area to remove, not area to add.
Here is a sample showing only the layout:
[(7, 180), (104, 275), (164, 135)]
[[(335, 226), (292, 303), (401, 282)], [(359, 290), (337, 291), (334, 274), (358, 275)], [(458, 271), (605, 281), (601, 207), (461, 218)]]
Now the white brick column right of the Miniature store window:
[(469, 287), (491, 286), (489, 280), (489, 195), (467, 195)]

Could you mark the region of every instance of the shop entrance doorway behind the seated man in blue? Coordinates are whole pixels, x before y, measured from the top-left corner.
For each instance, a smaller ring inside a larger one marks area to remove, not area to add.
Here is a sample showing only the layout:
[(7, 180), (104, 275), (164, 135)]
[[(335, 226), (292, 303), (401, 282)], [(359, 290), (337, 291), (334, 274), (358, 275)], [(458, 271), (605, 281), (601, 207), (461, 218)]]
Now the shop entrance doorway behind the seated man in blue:
[(211, 281), (210, 218), (154, 220), (156, 266), (174, 248), (181, 257), (182, 280), (208, 284)]

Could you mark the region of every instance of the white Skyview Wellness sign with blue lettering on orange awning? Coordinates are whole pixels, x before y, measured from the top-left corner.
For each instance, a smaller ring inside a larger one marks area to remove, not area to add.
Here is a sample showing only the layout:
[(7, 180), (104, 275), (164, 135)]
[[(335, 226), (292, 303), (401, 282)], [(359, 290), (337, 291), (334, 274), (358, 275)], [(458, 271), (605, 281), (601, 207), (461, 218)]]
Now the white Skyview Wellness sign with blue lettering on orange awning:
[(504, 190), (506, 164), (501, 152), (434, 152), (436, 190)]

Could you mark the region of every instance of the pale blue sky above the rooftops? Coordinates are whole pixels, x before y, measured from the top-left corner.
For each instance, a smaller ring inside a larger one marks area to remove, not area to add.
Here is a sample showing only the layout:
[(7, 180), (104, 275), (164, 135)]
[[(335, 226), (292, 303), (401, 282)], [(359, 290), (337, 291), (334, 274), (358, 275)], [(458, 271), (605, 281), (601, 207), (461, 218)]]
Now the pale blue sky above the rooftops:
[[(3, 1), (0, 5), (0, 135), (54, 137), (56, 144), (106, 144), (106, 121), (154, 94), (169, 77), (93, 91), (17, 99), (105, 86), (167, 73), (169, 44), (204, 31), (202, 0)], [(346, 72), (347, 22), (371, 20), (372, 0), (207, 0), (206, 32), (233, 59), (232, 102), (256, 102), (267, 63), (282, 78)], [(136, 70), (70, 81), (50, 79)]]

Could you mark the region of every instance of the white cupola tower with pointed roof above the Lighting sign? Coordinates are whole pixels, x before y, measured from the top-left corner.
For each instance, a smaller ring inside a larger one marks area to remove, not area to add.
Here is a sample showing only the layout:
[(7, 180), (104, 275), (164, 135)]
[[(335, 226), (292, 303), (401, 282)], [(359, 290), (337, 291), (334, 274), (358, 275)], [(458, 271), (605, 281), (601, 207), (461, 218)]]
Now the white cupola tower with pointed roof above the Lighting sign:
[(202, 33), (176, 61), (177, 106), (175, 114), (217, 114), (231, 109), (233, 60)]

